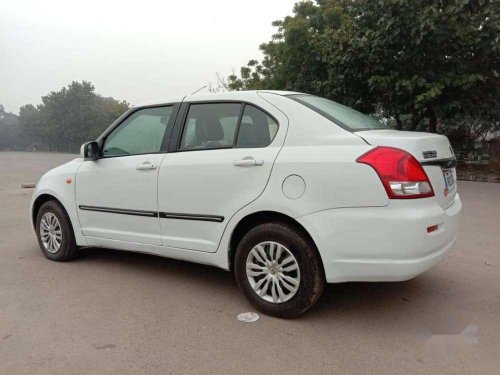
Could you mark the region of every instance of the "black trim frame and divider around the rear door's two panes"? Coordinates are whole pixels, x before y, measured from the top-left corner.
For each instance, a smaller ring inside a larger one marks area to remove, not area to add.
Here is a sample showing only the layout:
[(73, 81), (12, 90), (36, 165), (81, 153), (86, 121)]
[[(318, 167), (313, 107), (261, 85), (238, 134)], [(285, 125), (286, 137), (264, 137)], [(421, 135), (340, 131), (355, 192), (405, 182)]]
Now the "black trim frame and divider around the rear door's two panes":
[[(223, 146), (223, 147), (213, 147), (213, 148), (186, 149), (186, 150), (182, 150), (181, 149), (182, 134), (183, 134), (184, 128), (186, 126), (186, 120), (187, 120), (187, 116), (188, 116), (188, 113), (189, 113), (189, 108), (190, 108), (191, 105), (193, 105), (193, 104), (233, 104), (233, 103), (241, 105), (241, 107), (240, 107), (240, 113), (239, 113), (239, 116), (238, 116), (238, 123), (236, 124), (236, 131), (235, 131), (235, 135), (234, 135), (235, 138), (234, 138), (234, 141), (233, 141), (233, 145), (231, 145), (231, 146)], [(270, 118), (272, 118), (273, 121), (278, 126), (278, 130), (276, 131), (276, 134), (274, 135), (274, 138), (271, 140), (271, 143), (269, 143), (266, 146), (260, 146), (260, 147), (236, 147), (236, 142), (238, 140), (238, 133), (239, 133), (239, 130), (240, 130), (241, 120), (243, 118), (243, 112), (245, 111), (245, 107), (247, 105), (253, 106), (253, 107), (259, 109), (260, 111), (264, 112), (267, 116), (269, 116)], [(267, 110), (265, 110), (264, 108), (262, 108), (258, 104), (255, 104), (255, 103), (252, 103), (252, 102), (249, 102), (249, 101), (246, 101), (246, 100), (238, 100), (238, 99), (225, 99), (225, 100), (221, 100), (221, 99), (216, 99), (216, 100), (196, 100), (196, 101), (182, 102), (182, 105), (180, 106), (180, 109), (179, 109), (179, 114), (177, 115), (177, 121), (176, 121), (176, 124), (175, 124), (175, 128), (174, 128), (174, 130), (172, 132), (172, 137), (171, 137), (170, 144), (169, 144), (169, 147), (168, 147), (168, 152), (212, 151), (212, 150), (227, 150), (227, 149), (233, 149), (233, 148), (265, 148), (265, 147), (269, 147), (273, 143), (274, 139), (276, 138), (276, 135), (278, 134), (279, 129), (280, 129), (280, 123), (278, 122), (278, 120), (276, 119), (276, 117), (274, 117), (272, 114), (270, 114)]]

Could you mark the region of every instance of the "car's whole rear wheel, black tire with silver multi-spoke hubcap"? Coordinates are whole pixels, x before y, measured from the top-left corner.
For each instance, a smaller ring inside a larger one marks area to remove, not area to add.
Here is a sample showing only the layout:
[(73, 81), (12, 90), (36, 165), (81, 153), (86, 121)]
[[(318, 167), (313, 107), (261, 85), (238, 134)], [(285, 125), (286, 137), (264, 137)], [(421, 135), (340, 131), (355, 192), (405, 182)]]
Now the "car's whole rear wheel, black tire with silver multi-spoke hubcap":
[[(325, 286), (314, 243), (298, 228), (281, 222), (261, 224), (245, 234), (236, 249), (235, 276), (253, 306), (280, 318), (307, 311)], [(269, 281), (263, 281), (266, 277)]]

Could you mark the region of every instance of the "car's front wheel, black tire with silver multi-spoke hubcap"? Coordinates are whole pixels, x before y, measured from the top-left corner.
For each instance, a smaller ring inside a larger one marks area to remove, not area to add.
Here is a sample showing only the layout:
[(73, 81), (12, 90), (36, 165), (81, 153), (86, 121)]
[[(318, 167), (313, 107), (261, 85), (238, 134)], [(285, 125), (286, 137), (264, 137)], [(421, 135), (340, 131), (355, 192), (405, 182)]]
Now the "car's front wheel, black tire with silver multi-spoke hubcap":
[(77, 256), (71, 221), (56, 201), (45, 202), (38, 210), (36, 236), (43, 255), (50, 260), (64, 262)]

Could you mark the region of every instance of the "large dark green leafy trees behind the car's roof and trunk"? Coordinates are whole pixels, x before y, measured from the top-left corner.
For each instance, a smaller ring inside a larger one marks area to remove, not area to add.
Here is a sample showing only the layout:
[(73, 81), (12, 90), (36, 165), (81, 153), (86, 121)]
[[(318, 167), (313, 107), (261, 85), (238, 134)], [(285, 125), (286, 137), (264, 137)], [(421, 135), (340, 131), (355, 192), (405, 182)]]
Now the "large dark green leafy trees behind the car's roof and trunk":
[(230, 89), (308, 92), (411, 130), (500, 114), (500, 1), (303, 1), (274, 25)]

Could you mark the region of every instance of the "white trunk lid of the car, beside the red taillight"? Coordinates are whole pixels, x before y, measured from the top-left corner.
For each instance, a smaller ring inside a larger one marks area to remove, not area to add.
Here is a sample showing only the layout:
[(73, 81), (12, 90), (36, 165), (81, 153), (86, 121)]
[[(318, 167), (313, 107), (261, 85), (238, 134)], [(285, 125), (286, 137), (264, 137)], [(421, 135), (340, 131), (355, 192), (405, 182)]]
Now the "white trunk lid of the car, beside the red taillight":
[(457, 193), (456, 159), (448, 138), (439, 134), (400, 130), (366, 130), (354, 134), (373, 146), (403, 149), (423, 166), (441, 208), (448, 208)]

